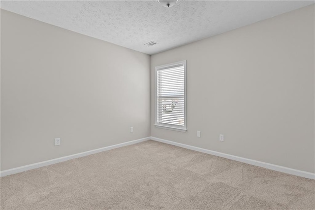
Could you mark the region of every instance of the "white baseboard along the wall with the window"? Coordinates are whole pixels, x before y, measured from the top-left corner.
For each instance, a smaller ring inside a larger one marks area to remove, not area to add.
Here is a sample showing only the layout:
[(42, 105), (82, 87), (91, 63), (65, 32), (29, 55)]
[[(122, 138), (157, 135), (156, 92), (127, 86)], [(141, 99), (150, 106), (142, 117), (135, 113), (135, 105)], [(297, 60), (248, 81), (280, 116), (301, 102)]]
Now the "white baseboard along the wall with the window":
[(235, 155), (229, 155), (229, 154), (225, 154), (225, 153), (221, 153), (221, 152), (212, 151), (209, 149), (203, 149), (200, 147), (190, 146), (190, 145), (183, 144), (183, 143), (177, 143), (177, 142), (170, 141), (170, 140), (163, 140), (163, 139), (159, 139), (159, 138), (155, 138), (155, 137), (151, 137), (151, 140), (155, 140), (155, 141), (159, 141), (162, 143), (167, 143), (167, 144), (171, 144), (171, 145), (175, 145), (175, 146), (183, 147), (186, 149), (190, 149), (190, 150), (194, 150), (194, 151), (198, 151), (198, 152), (203, 152), (203, 153), (207, 153), (210, 155), (215, 155), (215, 156), (219, 156), (219, 157), (223, 157), (223, 158), (227, 158), (227, 159), (231, 159), (231, 160), (236, 160), (236, 161), (239, 161), (242, 163), (247, 163), (250, 165), (259, 166), (262, 168), (271, 169), (274, 171), (283, 172), (283, 173), (290, 174), (290, 175), (297, 175), (297, 176), (301, 176), (301, 177), (305, 177), (305, 178), (315, 179), (315, 174), (310, 173), (310, 172), (291, 169), (291, 168), (287, 168), (284, 166), (278, 166), (278, 165), (265, 163), (265, 162), (261, 162), (261, 161), (256, 161), (256, 160), (252, 160), (252, 159), (248, 159), (248, 158), (242, 158), (242, 157), (238, 157)]

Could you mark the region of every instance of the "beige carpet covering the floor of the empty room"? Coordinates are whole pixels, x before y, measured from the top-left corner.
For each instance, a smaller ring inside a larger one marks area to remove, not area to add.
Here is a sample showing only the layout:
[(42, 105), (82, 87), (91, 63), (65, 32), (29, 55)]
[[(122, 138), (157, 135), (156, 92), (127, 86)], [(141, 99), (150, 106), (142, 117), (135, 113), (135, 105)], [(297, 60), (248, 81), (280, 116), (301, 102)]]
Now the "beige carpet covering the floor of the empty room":
[(1, 210), (315, 209), (315, 180), (152, 140), (0, 184)]

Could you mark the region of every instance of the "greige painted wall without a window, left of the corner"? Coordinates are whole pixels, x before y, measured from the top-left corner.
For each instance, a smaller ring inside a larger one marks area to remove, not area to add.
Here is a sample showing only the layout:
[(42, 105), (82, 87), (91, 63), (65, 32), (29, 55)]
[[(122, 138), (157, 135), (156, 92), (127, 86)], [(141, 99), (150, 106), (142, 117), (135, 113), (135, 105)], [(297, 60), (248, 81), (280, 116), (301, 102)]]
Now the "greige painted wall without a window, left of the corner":
[(1, 10), (1, 171), (149, 136), (149, 55)]

